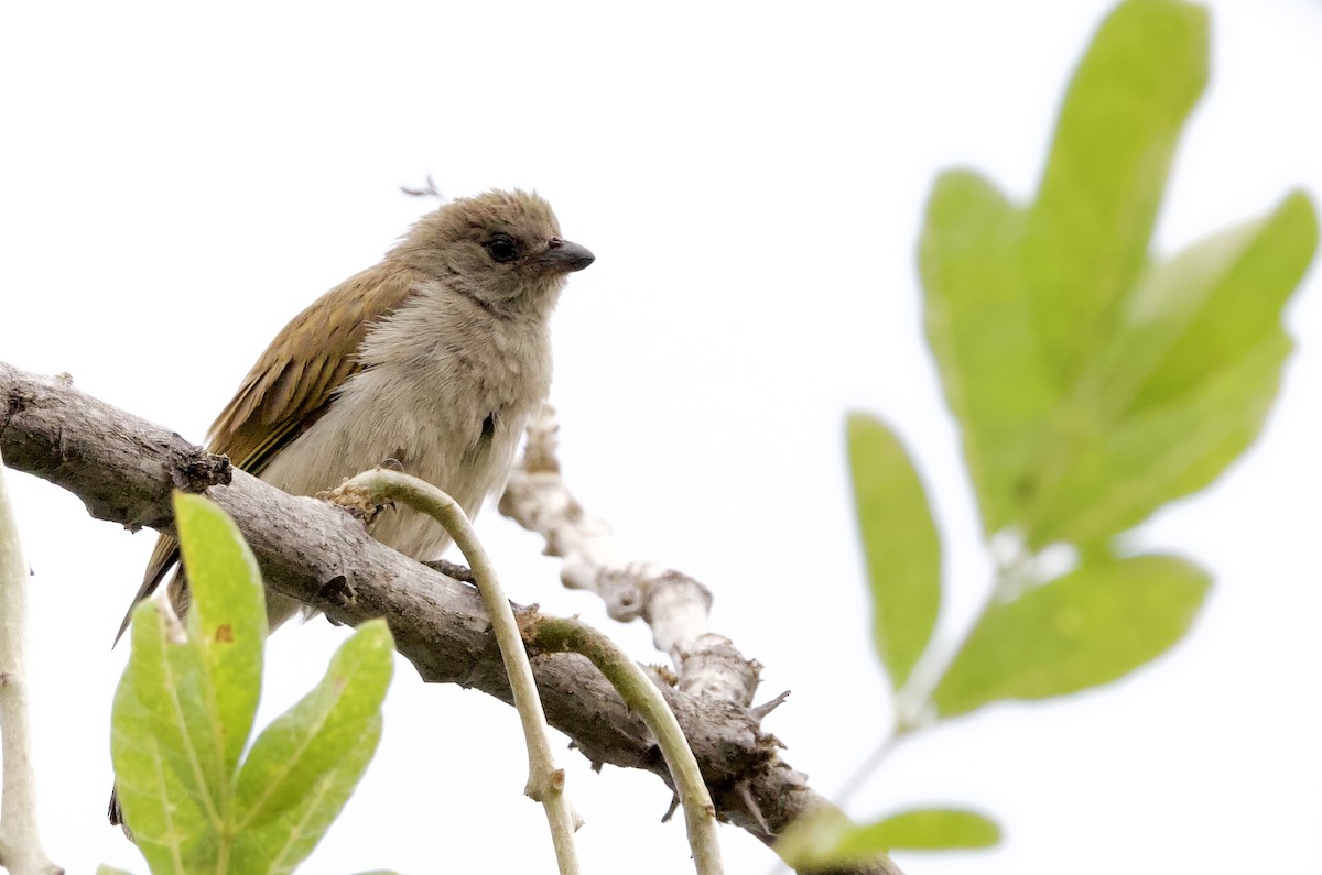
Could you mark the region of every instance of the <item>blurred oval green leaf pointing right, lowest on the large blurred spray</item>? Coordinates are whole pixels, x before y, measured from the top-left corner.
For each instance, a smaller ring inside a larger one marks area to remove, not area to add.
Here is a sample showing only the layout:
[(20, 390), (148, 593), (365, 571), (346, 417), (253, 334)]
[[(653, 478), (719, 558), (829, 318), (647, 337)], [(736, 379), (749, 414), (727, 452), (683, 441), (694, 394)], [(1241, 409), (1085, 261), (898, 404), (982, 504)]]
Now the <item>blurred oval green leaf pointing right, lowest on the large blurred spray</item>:
[(1174, 556), (1093, 558), (993, 604), (932, 695), (943, 718), (1116, 681), (1179, 641), (1211, 580)]

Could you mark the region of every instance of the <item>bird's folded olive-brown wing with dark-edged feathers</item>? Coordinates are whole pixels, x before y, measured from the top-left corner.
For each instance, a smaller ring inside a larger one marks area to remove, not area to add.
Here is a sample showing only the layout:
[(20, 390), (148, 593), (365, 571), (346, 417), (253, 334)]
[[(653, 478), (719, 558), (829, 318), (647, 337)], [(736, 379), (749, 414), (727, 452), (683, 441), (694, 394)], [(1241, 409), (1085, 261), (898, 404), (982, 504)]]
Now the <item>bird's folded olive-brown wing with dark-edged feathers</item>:
[[(385, 262), (336, 285), (295, 316), (215, 419), (209, 449), (260, 475), (275, 453), (327, 411), (344, 381), (362, 369), (356, 352), (368, 329), (398, 308), (416, 280), (411, 270)], [(176, 562), (178, 541), (160, 535), (116, 642), (134, 607), (156, 591)]]

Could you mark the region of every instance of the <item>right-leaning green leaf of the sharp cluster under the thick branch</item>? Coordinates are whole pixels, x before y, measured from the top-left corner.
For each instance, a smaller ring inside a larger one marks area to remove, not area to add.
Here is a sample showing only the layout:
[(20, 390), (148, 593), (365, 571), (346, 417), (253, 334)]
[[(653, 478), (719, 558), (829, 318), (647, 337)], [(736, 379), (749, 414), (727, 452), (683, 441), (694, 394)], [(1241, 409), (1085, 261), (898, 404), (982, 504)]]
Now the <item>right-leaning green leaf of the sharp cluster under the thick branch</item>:
[(362, 624), (321, 683), (258, 736), (235, 792), (241, 871), (292, 871), (344, 808), (381, 736), (393, 653), (385, 621)]

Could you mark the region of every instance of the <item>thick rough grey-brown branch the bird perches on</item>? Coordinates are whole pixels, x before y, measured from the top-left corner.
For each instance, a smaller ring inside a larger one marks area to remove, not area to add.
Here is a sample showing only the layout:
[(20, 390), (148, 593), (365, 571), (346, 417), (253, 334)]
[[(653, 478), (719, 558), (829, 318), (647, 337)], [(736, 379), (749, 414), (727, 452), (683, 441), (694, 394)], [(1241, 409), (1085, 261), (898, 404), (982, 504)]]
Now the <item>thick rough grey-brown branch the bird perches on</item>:
[[(11, 468), (77, 494), (91, 515), (130, 529), (172, 530), (171, 489), (205, 490), (243, 531), (272, 590), (349, 625), (386, 617), (399, 653), (424, 681), (476, 687), (510, 702), (476, 591), (373, 541), (340, 508), (231, 472), (226, 461), (78, 391), (67, 379), (3, 362), (0, 453)], [(591, 662), (546, 653), (533, 661), (533, 670), (547, 720), (594, 764), (645, 769), (669, 782), (646, 727)], [(665, 695), (719, 817), (769, 845), (795, 819), (830, 806), (780, 759), (779, 743), (761, 732), (759, 715), (713, 697), (673, 689)], [(899, 870), (876, 860), (837, 871)]]

